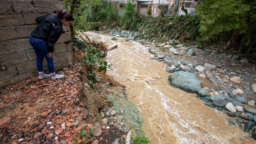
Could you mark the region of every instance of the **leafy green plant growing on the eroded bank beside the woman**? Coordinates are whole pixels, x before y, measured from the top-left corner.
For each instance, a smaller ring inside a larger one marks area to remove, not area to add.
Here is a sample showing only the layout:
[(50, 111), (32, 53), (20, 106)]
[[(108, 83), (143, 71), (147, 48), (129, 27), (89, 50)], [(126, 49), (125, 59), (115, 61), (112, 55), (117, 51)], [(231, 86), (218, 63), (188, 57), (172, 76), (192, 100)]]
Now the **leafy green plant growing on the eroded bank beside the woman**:
[(88, 48), (86, 57), (83, 57), (82, 59), (82, 61), (89, 64), (91, 68), (90, 71), (87, 71), (87, 79), (91, 87), (95, 86), (95, 83), (93, 83), (93, 78), (94, 74), (96, 74), (96, 69), (98, 69), (98, 71), (106, 72), (107, 67), (111, 66), (107, 64), (107, 61), (101, 60), (102, 57), (104, 57), (104, 54), (101, 52), (101, 50), (92, 46)]

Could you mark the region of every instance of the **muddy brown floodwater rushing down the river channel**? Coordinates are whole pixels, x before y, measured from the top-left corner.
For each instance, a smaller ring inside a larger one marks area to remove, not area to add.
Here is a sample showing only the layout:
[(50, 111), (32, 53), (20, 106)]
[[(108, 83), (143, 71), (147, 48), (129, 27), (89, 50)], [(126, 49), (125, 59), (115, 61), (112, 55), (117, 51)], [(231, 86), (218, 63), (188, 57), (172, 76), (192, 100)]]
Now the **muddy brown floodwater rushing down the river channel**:
[[(126, 85), (128, 99), (144, 119), (146, 137), (153, 144), (254, 143), (239, 126), (230, 126), (223, 112), (204, 106), (195, 94), (169, 85), (165, 64), (150, 59), (148, 48), (108, 34), (86, 33), (90, 38), (118, 47), (106, 60), (113, 64), (107, 74)], [(229, 117), (231, 118), (231, 117)], [(233, 119), (235, 121), (235, 119)]]

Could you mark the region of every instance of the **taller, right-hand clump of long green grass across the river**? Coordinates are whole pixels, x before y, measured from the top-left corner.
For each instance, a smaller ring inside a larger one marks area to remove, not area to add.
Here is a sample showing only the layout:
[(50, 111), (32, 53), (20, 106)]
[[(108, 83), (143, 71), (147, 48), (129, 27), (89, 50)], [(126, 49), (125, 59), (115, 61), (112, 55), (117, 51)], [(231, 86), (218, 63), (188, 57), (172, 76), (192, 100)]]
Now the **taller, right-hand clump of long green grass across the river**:
[(120, 25), (122, 25), (123, 29), (132, 29), (134, 31), (139, 28), (139, 23), (136, 20), (136, 12), (134, 10), (134, 5), (131, 0), (129, 0), (124, 7), (123, 16), (120, 20)]

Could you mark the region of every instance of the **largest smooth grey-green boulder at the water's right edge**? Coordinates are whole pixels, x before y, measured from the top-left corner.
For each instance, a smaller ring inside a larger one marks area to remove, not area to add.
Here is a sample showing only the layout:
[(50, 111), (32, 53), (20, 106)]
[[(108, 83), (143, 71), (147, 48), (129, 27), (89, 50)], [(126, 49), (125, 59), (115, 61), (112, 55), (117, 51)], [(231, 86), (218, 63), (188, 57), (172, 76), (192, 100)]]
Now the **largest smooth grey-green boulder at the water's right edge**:
[(196, 75), (184, 71), (175, 71), (168, 81), (171, 86), (180, 88), (186, 92), (198, 93), (201, 90), (200, 82)]

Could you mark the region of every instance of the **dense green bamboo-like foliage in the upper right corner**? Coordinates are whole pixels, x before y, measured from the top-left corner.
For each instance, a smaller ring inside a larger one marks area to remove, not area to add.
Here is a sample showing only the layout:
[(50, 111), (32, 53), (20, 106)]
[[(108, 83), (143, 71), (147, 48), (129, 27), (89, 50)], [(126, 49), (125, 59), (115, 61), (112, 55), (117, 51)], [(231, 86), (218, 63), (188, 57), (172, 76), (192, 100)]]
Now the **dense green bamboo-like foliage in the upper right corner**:
[(207, 0), (201, 1), (195, 12), (200, 17), (202, 39), (231, 37), (232, 42), (251, 47), (256, 42), (255, 11), (255, 0)]

